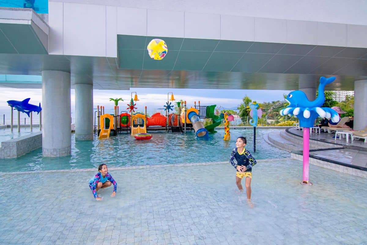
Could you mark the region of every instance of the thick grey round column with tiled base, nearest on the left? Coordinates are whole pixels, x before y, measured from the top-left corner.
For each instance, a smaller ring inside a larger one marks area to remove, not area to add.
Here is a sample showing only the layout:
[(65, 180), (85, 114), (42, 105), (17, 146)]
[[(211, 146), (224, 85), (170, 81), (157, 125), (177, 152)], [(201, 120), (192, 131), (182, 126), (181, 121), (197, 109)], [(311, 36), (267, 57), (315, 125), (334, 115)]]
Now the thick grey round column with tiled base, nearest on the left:
[(70, 73), (42, 71), (42, 154), (71, 154)]

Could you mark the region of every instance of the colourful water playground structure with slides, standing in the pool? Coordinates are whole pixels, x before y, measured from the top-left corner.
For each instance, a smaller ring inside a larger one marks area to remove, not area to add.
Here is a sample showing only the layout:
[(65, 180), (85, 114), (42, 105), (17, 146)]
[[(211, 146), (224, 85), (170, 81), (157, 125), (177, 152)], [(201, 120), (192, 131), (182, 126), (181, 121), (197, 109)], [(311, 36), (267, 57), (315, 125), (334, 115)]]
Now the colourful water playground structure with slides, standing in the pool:
[[(169, 93), (168, 93), (169, 94)], [(134, 99), (131, 96), (131, 101), (127, 104), (128, 111), (119, 111), (119, 106), (115, 106), (114, 114), (105, 114), (104, 107), (97, 106), (95, 112), (95, 124), (94, 133), (98, 135), (98, 138), (108, 138), (110, 135), (116, 136), (118, 133), (130, 133), (137, 139), (150, 139), (147, 137), (148, 130), (165, 130), (172, 133), (186, 133), (186, 130), (194, 130), (196, 137), (200, 139), (208, 139), (209, 133), (215, 133), (215, 127), (221, 125), (222, 120), (225, 121), (225, 136), (224, 140), (229, 140), (229, 114), (225, 113), (220, 116), (215, 115), (215, 107), (217, 105), (201, 106), (196, 105), (194, 107), (187, 108), (186, 101), (176, 102), (178, 113), (170, 113), (174, 111), (174, 105), (170, 101), (174, 101), (173, 94), (171, 99), (164, 105), (166, 115), (160, 112), (154, 113), (152, 116), (147, 117), (146, 107), (144, 113), (135, 112), (137, 109), (136, 101), (138, 101), (135, 94)], [(135, 113), (134, 113), (135, 112)], [(233, 118), (233, 116), (232, 116)], [(202, 119), (211, 119), (212, 123), (204, 127)], [(137, 134), (142, 134), (137, 136)]]

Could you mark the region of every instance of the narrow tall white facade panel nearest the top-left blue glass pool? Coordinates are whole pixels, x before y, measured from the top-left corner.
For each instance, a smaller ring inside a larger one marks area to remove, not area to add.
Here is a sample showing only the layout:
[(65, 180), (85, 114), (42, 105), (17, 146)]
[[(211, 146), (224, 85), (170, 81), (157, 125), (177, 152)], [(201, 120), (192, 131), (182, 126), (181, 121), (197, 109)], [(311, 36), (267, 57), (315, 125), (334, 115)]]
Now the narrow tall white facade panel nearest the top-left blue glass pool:
[(48, 3), (48, 54), (63, 54), (63, 3)]

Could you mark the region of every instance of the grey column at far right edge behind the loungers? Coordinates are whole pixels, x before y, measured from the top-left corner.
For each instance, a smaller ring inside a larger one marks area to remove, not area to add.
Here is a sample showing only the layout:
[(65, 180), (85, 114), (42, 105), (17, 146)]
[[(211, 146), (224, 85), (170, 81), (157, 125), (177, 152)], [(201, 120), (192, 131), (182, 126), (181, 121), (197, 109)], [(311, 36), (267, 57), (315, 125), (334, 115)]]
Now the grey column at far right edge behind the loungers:
[(354, 82), (354, 122), (353, 129), (363, 130), (367, 126), (367, 80)]

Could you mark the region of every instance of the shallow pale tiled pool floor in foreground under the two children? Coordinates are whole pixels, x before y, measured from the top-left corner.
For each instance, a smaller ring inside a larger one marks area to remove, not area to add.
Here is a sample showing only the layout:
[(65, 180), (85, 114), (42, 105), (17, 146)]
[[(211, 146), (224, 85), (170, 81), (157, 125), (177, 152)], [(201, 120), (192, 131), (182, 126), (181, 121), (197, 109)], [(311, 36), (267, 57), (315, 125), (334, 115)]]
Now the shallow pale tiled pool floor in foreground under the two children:
[(95, 201), (97, 171), (0, 175), (0, 244), (367, 244), (366, 179), (302, 163), (260, 160), (252, 199), (235, 193), (229, 163), (110, 170)]

